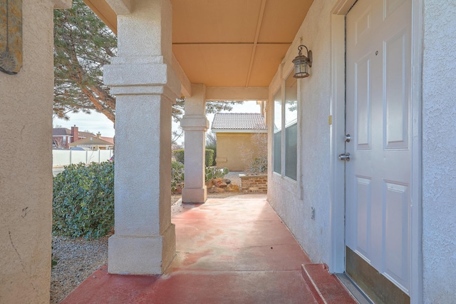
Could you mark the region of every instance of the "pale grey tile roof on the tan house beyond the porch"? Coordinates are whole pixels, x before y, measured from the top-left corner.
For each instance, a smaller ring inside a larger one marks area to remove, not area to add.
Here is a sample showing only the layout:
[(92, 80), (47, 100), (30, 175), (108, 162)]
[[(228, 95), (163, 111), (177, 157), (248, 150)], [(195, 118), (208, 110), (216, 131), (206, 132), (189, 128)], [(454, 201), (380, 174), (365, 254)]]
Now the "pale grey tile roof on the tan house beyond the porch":
[(216, 113), (212, 129), (266, 130), (264, 117), (260, 113)]

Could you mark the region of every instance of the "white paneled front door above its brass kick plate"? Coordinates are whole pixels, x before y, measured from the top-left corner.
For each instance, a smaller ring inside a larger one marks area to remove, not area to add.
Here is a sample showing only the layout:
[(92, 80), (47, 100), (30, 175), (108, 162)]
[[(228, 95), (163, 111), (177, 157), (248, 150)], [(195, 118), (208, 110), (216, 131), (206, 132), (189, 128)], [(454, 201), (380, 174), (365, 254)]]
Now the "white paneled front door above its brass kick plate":
[(411, 0), (346, 16), (346, 245), (410, 295)]

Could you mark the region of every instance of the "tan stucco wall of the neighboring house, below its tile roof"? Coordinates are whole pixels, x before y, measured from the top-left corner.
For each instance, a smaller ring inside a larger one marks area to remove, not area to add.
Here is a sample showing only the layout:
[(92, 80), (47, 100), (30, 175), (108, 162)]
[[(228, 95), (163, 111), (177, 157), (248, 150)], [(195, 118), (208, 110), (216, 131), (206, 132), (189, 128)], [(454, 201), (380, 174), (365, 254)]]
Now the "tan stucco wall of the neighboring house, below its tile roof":
[[(263, 133), (266, 136), (266, 133)], [(217, 133), (217, 167), (227, 167), (229, 171), (244, 171), (242, 151), (252, 150), (254, 133)], [(240, 148), (240, 147), (244, 148)]]

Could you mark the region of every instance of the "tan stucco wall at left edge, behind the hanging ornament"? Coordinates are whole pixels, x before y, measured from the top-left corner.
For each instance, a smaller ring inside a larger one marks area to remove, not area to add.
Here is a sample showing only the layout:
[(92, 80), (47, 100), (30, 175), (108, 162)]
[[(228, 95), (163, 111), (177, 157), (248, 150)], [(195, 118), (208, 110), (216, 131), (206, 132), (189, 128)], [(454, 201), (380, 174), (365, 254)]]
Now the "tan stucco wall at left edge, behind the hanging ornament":
[(0, 303), (49, 303), (53, 4), (23, 0), (24, 61), (0, 72)]

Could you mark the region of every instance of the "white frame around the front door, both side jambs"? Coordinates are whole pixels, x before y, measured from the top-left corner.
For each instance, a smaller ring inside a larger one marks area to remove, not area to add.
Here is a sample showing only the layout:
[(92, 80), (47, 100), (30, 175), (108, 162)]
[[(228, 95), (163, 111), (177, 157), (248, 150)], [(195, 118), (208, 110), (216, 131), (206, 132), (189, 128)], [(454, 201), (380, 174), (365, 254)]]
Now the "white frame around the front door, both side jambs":
[[(410, 120), (412, 132), (412, 176), (410, 201), (410, 300), (423, 303), (422, 250), (422, 69), (423, 1), (412, 0), (412, 75)], [(345, 172), (338, 154), (345, 152), (345, 15), (356, 0), (338, 0), (331, 11), (331, 273), (345, 271)]]

